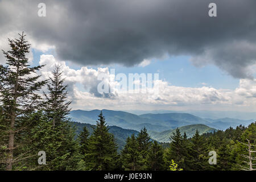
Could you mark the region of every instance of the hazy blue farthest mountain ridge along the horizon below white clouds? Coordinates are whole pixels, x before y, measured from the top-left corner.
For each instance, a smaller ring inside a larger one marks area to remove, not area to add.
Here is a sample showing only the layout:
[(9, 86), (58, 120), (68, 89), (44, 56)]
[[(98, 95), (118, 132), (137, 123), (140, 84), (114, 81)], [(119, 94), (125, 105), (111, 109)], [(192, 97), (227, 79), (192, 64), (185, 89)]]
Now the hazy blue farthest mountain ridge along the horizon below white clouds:
[[(89, 123), (94, 125), (98, 119), (101, 110), (73, 110), (69, 114), (75, 122)], [(141, 130), (146, 127), (147, 130), (162, 132), (175, 129), (186, 125), (203, 124), (216, 129), (225, 130), (228, 127), (236, 127), (238, 125), (249, 125), (253, 119), (248, 121), (241, 119), (223, 118), (209, 119), (200, 118), (188, 113), (163, 113), (163, 114), (142, 114), (136, 115), (125, 111), (102, 110), (106, 122), (109, 126), (118, 126), (123, 129)]]

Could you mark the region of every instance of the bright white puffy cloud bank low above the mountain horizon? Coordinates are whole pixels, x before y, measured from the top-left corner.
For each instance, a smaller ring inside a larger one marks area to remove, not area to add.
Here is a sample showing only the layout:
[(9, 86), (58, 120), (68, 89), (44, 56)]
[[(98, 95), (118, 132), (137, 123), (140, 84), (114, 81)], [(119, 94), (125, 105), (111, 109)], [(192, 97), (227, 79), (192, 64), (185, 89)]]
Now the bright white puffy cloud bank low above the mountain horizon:
[[(226, 107), (230, 110), (242, 108), (255, 109), (256, 106), (256, 80), (241, 79), (240, 85), (235, 90), (216, 89), (209, 86), (197, 88), (175, 86), (163, 80), (154, 81), (152, 88), (143, 90), (118, 89), (120, 81), (115, 79), (109, 69), (81, 67), (69, 68), (64, 61), (57, 61), (52, 55), (41, 55), (40, 65), (46, 64), (40, 71), (42, 79), (51, 76), (55, 64), (60, 64), (63, 69), (65, 83), (68, 84), (69, 100), (73, 109), (173, 109), (198, 108), (198, 107)], [(103, 74), (105, 82), (113, 93), (98, 93), (97, 86), (101, 82), (98, 76)], [(128, 77), (127, 77), (128, 78)], [(127, 81), (128, 83), (129, 81)], [(142, 85), (141, 82), (133, 81)], [(135, 92), (138, 91), (138, 92)]]

